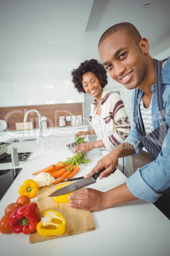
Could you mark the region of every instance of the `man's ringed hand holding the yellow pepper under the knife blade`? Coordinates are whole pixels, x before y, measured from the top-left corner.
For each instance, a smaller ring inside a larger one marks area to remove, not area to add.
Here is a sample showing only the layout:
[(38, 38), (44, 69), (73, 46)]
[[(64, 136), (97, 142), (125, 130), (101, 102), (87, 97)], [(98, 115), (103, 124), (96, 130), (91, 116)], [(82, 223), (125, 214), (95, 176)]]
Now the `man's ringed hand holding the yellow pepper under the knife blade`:
[(105, 192), (84, 188), (69, 196), (69, 206), (86, 211), (102, 211), (105, 206)]

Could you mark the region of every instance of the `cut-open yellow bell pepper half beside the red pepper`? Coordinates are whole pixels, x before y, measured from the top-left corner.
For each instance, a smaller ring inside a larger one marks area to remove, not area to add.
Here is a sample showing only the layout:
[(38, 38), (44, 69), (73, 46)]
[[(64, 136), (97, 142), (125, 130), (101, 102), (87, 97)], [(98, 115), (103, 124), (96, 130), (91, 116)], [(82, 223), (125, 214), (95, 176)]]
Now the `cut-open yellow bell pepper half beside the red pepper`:
[(41, 236), (59, 236), (65, 232), (65, 218), (58, 211), (44, 211), (37, 232)]

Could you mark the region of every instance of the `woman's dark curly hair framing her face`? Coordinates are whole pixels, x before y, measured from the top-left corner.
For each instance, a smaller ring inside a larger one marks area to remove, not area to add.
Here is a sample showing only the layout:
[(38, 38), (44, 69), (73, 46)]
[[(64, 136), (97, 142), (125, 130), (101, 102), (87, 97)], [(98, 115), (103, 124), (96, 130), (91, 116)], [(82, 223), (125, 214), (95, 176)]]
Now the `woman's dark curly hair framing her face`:
[(81, 63), (79, 68), (73, 69), (71, 73), (72, 82), (74, 83), (74, 87), (78, 90), (78, 92), (86, 93), (82, 86), (82, 75), (88, 72), (94, 73), (95, 76), (97, 76), (102, 88), (107, 85), (107, 71), (105, 68), (95, 59), (85, 60)]

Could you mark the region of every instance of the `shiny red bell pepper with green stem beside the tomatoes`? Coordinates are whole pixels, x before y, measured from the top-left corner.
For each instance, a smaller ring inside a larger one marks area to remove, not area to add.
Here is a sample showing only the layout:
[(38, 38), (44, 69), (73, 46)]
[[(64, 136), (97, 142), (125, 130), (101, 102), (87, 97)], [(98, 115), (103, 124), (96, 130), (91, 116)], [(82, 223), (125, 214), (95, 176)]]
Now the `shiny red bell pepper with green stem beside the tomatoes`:
[(15, 234), (29, 234), (36, 230), (41, 213), (36, 203), (24, 204), (10, 215), (10, 229)]

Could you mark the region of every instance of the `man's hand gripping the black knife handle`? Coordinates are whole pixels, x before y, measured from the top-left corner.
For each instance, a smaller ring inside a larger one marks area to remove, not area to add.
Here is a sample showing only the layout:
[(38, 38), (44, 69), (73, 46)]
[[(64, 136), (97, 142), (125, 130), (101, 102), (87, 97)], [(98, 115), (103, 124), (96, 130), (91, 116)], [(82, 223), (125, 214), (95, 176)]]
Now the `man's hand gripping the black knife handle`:
[(100, 171), (101, 169), (105, 168), (105, 171), (103, 171), (99, 178), (107, 178), (108, 176), (110, 176), (110, 174), (112, 173), (112, 171), (114, 171), (114, 169), (118, 166), (118, 157), (116, 156), (116, 154), (114, 153), (114, 151), (108, 153), (107, 155), (105, 155), (105, 157), (101, 158), (100, 160), (98, 160), (96, 166), (93, 168), (93, 170), (87, 174), (86, 176), (84, 176), (84, 178), (89, 178), (91, 177), (93, 174), (97, 173), (98, 171)]

